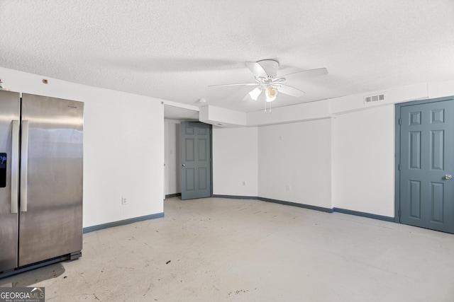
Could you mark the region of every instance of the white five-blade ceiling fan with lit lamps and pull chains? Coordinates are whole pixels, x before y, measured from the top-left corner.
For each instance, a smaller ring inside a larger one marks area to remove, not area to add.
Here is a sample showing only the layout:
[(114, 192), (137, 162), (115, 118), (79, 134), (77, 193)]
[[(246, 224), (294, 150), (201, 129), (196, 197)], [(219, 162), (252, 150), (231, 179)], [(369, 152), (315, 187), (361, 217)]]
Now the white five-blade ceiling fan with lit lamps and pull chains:
[[(299, 98), (304, 95), (304, 91), (298, 88), (288, 86), (285, 82), (287, 77), (298, 76), (299, 79), (309, 78), (313, 76), (323, 76), (328, 74), (326, 68), (310, 69), (304, 71), (297, 71), (291, 74), (285, 74), (283, 76), (277, 76), (277, 69), (279, 68), (279, 62), (274, 59), (265, 59), (258, 62), (245, 62), (248, 69), (255, 76), (255, 83), (236, 83), (236, 84), (222, 84), (222, 85), (211, 85), (209, 87), (223, 87), (223, 86), (255, 86), (243, 100), (251, 98), (258, 100), (258, 97), (265, 92), (265, 101), (267, 103), (272, 102), (276, 99), (277, 93), (283, 93)], [(266, 103), (265, 103), (266, 111)]]

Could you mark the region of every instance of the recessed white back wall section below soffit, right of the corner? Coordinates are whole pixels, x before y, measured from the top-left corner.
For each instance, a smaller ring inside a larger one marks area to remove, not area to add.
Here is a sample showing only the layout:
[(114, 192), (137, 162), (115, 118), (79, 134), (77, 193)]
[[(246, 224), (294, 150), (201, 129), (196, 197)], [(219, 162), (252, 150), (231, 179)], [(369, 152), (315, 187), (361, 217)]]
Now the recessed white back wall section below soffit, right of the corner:
[(258, 172), (259, 197), (331, 209), (331, 119), (259, 127)]

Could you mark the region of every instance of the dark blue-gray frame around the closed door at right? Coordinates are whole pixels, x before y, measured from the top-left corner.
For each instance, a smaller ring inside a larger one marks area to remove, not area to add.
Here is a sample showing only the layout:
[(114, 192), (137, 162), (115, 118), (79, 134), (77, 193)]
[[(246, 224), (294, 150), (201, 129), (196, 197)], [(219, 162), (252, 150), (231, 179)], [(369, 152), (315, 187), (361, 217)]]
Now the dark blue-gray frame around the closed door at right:
[(445, 100), (454, 100), (454, 95), (453, 96), (448, 96), (448, 97), (443, 97), (443, 98), (432, 98), (432, 99), (426, 99), (426, 100), (414, 100), (411, 102), (406, 102), (406, 103), (399, 103), (396, 104), (395, 106), (395, 174), (394, 174), (394, 181), (395, 181), (395, 189), (394, 189), (394, 222), (400, 223), (400, 170), (399, 166), (401, 163), (401, 158), (400, 158), (400, 114), (401, 114), (401, 108), (404, 106), (409, 106), (409, 105), (421, 105), (421, 104), (427, 104), (427, 103), (436, 103), (436, 102), (442, 102)]

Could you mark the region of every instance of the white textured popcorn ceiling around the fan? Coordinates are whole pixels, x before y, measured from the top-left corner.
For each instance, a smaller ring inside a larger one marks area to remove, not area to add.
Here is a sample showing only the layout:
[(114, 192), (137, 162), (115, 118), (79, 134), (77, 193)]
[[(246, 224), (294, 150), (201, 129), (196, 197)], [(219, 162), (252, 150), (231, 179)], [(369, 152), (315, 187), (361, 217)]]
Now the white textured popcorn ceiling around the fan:
[[(273, 106), (454, 79), (453, 0), (0, 0), (0, 66), (245, 112), (244, 62), (277, 59), (306, 94)], [(7, 79), (1, 78), (7, 85)]]

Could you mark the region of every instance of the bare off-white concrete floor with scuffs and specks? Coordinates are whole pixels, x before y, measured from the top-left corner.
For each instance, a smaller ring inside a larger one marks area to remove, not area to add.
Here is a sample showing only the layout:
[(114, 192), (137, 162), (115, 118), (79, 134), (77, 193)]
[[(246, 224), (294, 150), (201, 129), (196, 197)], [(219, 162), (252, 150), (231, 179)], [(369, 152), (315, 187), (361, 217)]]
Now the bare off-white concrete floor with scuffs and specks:
[(257, 200), (165, 200), (82, 258), (0, 279), (46, 301), (454, 301), (454, 235)]

